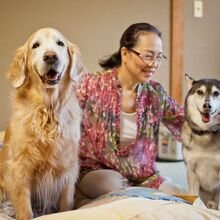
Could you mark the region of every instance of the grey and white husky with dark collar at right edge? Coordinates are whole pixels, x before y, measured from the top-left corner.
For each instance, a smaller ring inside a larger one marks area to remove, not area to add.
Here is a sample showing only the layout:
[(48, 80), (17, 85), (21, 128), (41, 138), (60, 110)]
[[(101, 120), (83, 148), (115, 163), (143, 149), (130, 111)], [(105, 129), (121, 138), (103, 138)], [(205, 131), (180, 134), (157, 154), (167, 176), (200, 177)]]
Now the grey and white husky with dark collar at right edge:
[(185, 78), (189, 92), (182, 141), (189, 193), (220, 210), (220, 81)]

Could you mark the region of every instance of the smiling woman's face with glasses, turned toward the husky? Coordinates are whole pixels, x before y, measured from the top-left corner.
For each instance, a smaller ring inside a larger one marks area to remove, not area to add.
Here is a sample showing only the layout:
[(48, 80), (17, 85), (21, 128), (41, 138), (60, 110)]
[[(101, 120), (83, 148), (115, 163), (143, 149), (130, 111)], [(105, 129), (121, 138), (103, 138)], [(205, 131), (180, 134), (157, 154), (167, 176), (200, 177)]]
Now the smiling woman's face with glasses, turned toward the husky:
[(154, 75), (162, 58), (162, 40), (153, 32), (140, 34), (134, 48), (122, 50), (123, 64), (134, 83), (147, 82)]

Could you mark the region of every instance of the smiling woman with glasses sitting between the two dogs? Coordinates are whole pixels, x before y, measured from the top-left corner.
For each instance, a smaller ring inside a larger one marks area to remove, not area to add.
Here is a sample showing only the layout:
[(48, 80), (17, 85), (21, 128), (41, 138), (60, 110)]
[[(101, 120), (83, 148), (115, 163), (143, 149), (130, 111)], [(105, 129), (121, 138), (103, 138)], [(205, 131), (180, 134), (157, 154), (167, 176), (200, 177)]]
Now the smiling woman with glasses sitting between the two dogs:
[(151, 77), (166, 57), (161, 32), (148, 23), (123, 33), (118, 52), (87, 74), (78, 96), (83, 109), (80, 192), (96, 198), (128, 185), (180, 189), (155, 164), (160, 122), (180, 139), (183, 109)]

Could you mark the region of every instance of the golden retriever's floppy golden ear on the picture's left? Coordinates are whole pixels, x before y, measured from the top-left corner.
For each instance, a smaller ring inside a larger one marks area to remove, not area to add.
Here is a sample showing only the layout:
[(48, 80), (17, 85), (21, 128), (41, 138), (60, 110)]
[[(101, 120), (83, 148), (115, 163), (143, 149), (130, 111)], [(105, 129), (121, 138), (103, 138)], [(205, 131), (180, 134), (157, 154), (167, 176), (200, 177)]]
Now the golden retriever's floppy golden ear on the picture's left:
[(20, 87), (25, 80), (26, 66), (26, 45), (19, 47), (16, 50), (14, 59), (9, 67), (6, 77), (11, 81), (12, 85)]

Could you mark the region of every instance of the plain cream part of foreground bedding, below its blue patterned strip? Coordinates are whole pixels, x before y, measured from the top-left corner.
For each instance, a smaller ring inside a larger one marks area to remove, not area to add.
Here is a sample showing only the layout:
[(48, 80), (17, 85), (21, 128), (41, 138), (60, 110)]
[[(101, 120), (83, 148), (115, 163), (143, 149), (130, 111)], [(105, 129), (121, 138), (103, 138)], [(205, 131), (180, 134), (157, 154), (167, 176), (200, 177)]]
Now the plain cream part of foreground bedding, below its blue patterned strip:
[(189, 204), (145, 198), (124, 198), (95, 207), (41, 216), (36, 220), (217, 220), (220, 213)]

